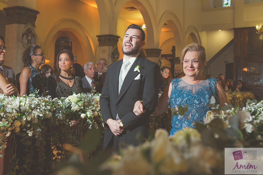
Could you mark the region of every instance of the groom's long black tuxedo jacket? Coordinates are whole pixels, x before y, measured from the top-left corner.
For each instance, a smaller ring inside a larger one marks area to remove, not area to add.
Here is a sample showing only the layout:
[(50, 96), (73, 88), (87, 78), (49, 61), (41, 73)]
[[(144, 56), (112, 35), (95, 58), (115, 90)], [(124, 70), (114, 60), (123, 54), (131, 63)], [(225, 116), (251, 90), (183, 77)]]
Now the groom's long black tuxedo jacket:
[[(125, 131), (118, 137), (119, 141), (138, 145), (136, 135), (140, 133), (143, 137), (148, 137), (150, 114), (155, 111), (158, 102), (160, 67), (155, 62), (138, 56), (128, 71), (118, 95), (122, 63), (123, 60), (119, 60), (109, 65), (100, 97), (100, 109), (105, 126), (103, 150), (113, 138), (113, 133), (105, 123), (107, 119), (116, 120), (118, 113), (125, 127)], [(134, 80), (137, 76), (134, 68), (137, 65), (143, 66), (139, 72), (141, 79)], [(134, 104), (138, 100), (143, 100), (146, 109), (141, 116), (133, 113)]]

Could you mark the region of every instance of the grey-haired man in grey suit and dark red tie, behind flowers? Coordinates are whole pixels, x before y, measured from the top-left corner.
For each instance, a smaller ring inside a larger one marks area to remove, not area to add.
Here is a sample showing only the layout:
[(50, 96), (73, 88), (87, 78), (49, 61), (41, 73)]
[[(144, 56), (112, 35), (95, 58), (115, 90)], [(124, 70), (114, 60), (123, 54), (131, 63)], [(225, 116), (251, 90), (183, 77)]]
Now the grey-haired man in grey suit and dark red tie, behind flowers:
[(84, 65), (84, 73), (85, 76), (81, 79), (83, 84), (83, 92), (84, 93), (94, 93), (95, 86), (97, 87), (98, 82), (94, 81), (94, 77), (96, 74), (96, 66), (93, 62), (88, 62)]

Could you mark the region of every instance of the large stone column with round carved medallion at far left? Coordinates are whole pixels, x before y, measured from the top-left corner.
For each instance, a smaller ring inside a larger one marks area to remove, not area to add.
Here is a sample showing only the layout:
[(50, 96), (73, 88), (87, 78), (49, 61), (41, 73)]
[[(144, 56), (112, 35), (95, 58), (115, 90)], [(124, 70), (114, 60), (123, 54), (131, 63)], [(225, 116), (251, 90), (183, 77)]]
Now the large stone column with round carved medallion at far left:
[(23, 6), (4, 8), (6, 11), (6, 58), (4, 65), (12, 67), (15, 74), (23, 70), (23, 51), (30, 44), (37, 44), (35, 22), (39, 11)]

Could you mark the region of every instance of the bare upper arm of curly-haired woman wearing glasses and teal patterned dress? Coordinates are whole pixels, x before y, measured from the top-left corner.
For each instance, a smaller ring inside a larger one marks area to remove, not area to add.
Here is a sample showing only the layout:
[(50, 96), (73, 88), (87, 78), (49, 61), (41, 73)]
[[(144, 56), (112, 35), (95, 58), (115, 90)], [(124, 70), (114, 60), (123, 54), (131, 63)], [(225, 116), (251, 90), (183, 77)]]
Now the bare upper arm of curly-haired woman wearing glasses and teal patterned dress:
[(20, 83), (20, 96), (26, 95), (27, 93), (27, 83), (31, 77), (30, 67), (25, 67), (20, 74), (19, 83)]

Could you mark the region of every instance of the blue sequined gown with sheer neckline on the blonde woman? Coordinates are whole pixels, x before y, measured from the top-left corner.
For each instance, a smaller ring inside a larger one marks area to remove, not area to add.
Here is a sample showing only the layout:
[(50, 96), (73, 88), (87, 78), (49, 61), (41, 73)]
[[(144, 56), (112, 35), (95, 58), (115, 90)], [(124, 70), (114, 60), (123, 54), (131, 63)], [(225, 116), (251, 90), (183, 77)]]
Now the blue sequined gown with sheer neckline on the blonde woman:
[[(211, 96), (214, 96), (216, 103), (218, 103), (216, 78), (206, 78), (201, 83), (195, 85), (187, 84), (182, 78), (173, 79), (171, 83), (171, 108), (174, 108), (175, 105), (177, 107), (187, 105), (188, 111), (185, 113), (185, 116), (190, 117), (194, 122), (203, 121), (206, 112), (210, 110), (210, 107), (206, 107), (206, 105), (210, 104)], [(191, 120), (188, 120), (186, 117), (180, 118), (178, 115), (173, 115), (170, 135), (173, 135), (174, 132), (182, 128), (194, 128), (195, 125), (192, 125), (193, 122)]]

